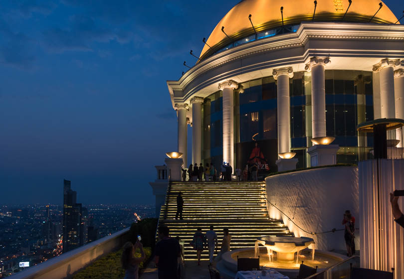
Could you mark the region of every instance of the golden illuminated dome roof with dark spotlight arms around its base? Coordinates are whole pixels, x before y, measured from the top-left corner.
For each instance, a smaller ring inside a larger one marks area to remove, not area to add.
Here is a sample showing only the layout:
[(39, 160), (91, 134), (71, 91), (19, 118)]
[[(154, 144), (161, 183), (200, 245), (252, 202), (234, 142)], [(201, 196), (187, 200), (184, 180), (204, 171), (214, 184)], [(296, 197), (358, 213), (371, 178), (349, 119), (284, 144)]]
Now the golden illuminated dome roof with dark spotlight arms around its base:
[[(352, 0), (344, 21), (368, 22), (379, 9), (380, 2), (380, 0)], [(249, 14), (251, 14), (251, 20), (257, 32), (281, 26), (281, 6), (283, 6), (285, 25), (299, 24), (301, 21), (313, 18), (313, 0), (242, 0), (217, 23), (206, 41), (212, 48), (209, 49), (207, 45), (204, 45), (200, 58), (203, 59), (231, 43), (221, 31), (222, 26), (232, 40), (254, 34), (248, 20)], [(314, 20), (341, 20), (348, 6), (348, 0), (318, 0)], [(372, 19), (372, 22), (375, 23), (395, 23), (396, 21), (397, 17), (384, 3)]]

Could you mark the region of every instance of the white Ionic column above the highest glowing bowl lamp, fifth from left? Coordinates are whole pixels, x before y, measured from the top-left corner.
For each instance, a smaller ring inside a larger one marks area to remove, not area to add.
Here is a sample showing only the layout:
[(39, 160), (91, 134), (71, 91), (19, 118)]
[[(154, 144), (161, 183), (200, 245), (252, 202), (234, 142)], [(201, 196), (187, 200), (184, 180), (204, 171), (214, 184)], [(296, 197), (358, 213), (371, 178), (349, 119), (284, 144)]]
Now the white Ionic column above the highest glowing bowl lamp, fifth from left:
[(305, 70), (311, 70), (311, 115), (313, 138), (326, 137), (325, 118), (325, 64), (328, 57), (313, 57), (306, 65)]

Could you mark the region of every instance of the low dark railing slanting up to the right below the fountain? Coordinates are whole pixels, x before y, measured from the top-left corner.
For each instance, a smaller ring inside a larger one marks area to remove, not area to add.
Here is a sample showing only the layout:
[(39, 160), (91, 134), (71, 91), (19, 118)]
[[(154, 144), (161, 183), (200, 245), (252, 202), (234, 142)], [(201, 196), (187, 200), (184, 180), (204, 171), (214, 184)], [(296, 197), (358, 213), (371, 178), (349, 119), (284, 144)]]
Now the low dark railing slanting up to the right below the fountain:
[(359, 256), (352, 256), (305, 279), (351, 279), (351, 268), (359, 268)]

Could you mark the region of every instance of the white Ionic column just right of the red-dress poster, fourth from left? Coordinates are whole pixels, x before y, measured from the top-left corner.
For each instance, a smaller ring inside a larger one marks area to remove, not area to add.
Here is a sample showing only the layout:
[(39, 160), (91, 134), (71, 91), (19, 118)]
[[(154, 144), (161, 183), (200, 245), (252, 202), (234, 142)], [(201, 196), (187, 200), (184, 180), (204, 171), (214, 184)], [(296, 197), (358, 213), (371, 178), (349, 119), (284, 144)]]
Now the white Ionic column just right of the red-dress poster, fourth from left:
[(292, 67), (275, 69), (272, 75), (277, 84), (278, 101), (278, 154), (290, 152), (290, 94), (289, 78), (293, 77)]

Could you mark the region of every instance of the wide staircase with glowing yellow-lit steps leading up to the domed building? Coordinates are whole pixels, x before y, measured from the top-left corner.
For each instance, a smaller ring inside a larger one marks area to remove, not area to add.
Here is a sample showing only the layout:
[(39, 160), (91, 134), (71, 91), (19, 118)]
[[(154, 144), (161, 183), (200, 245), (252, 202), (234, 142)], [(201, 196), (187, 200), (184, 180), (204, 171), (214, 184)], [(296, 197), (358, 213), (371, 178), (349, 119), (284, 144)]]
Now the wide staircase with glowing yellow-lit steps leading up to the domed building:
[[(184, 220), (175, 220), (177, 195), (183, 193)], [(253, 248), (257, 237), (292, 236), (279, 220), (268, 218), (265, 204), (265, 184), (258, 182), (171, 182), (166, 203), (160, 211), (159, 225), (167, 225), (172, 237), (185, 241), (185, 259), (196, 259), (190, 245), (198, 227), (202, 233), (214, 226), (220, 251), (223, 228), (231, 235), (230, 249)], [(202, 259), (208, 259), (207, 249)]]

